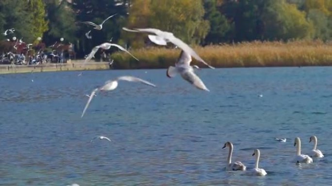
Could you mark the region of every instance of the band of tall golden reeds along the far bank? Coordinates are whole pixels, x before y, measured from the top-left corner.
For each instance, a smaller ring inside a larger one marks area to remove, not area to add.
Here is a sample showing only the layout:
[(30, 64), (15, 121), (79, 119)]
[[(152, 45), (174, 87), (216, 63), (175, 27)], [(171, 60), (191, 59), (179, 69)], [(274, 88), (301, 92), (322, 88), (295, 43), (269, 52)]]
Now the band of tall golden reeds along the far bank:
[[(331, 66), (332, 43), (321, 41), (246, 42), (194, 47), (214, 67)], [(174, 65), (180, 49), (163, 46), (130, 50), (139, 59), (117, 52), (112, 55), (118, 69), (167, 68)], [(205, 67), (193, 59), (193, 63)]]

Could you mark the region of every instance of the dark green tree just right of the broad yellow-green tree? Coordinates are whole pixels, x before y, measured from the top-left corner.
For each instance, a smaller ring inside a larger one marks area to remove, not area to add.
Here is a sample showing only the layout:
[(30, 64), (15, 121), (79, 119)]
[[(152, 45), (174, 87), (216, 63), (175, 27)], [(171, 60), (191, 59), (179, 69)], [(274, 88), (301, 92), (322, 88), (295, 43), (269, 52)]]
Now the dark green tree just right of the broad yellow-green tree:
[(221, 14), (217, 5), (222, 5), (219, 0), (204, 0), (205, 19), (210, 22), (210, 30), (205, 37), (205, 43), (220, 43), (229, 41), (229, 33), (232, 25), (228, 23), (227, 18)]

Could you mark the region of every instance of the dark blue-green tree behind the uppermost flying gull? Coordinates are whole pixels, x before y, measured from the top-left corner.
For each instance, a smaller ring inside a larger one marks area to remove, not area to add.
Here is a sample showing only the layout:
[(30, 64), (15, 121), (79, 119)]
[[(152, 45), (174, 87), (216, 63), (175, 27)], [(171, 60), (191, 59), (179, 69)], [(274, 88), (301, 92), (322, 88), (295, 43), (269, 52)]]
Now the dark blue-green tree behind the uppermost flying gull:
[[(100, 24), (112, 14), (116, 16), (103, 24), (103, 29), (95, 30), (91, 25), (77, 24), (76, 46), (80, 57), (90, 52), (92, 47), (104, 42), (116, 43), (120, 37), (121, 28), (127, 15), (129, 0), (72, 0), (70, 3), (76, 13), (76, 21), (91, 21)], [(92, 40), (85, 37), (85, 33), (91, 31)], [(98, 57), (96, 54), (96, 57)]]

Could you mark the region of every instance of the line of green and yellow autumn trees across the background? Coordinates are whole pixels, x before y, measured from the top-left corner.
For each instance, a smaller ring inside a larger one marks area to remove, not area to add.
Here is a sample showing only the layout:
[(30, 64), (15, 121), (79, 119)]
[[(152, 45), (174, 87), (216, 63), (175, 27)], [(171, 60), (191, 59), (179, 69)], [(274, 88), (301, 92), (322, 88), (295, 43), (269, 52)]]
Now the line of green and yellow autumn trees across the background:
[[(101, 23), (102, 30), (78, 21)], [(122, 30), (157, 28), (190, 44), (288, 41), (332, 37), (332, 0), (0, 0), (0, 31), (15, 28), (27, 43), (73, 43), (78, 57), (112, 43), (140, 48), (143, 34)], [(88, 39), (85, 33), (92, 30)], [(0, 35), (0, 40), (14, 35)]]

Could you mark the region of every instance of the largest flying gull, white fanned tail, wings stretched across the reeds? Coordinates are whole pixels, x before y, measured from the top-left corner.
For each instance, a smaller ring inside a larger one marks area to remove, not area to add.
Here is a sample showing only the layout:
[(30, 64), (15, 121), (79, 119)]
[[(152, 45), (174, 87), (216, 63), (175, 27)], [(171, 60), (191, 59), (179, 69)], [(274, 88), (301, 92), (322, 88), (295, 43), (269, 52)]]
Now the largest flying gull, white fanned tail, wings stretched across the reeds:
[(198, 61), (204, 63), (211, 69), (215, 69), (211, 65), (207, 64), (199, 55), (186, 43), (184, 43), (179, 38), (175, 37), (173, 33), (162, 31), (160, 29), (127, 29), (125, 27), (122, 28), (123, 30), (130, 31), (130, 32), (147, 32), (152, 33), (155, 35), (148, 35), (151, 42), (159, 44), (159, 45), (166, 45), (167, 43), (173, 43), (179, 48), (181, 48), (184, 52), (186, 52), (188, 55), (194, 57)]

